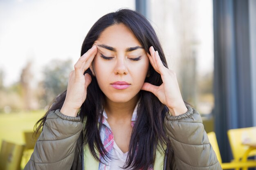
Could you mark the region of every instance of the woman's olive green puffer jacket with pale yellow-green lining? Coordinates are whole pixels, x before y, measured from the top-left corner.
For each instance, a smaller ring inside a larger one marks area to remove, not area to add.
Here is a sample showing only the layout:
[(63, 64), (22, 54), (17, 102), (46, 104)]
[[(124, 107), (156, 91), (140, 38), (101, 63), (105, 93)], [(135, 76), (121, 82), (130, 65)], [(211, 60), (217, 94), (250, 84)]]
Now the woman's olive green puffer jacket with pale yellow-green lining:
[[(166, 113), (164, 126), (172, 148), (155, 159), (154, 170), (221, 170), (200, 114), (186, 107), (182, 115)], [(82, 146), (82, 129), (79, 116), (49, 113), (25, 170), (98, 170), (99, 164)]]

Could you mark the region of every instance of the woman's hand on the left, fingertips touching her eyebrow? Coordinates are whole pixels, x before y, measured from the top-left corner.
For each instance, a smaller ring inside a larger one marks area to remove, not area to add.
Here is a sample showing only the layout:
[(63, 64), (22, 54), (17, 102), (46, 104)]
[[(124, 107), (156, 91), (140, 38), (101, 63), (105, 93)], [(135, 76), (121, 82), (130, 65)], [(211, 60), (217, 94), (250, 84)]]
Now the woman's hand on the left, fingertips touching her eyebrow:
[(94, 45), (74, 65), (74, 70), (71, 71), (68, 79), (66, 98), (60, 110), (62, 114), (76, 117), (86, 99), (87, 87), (92, 81), (92, 77), (88, 73), (85, 75), (83, 73), (90, 67), (96, 54), (97, 46)]

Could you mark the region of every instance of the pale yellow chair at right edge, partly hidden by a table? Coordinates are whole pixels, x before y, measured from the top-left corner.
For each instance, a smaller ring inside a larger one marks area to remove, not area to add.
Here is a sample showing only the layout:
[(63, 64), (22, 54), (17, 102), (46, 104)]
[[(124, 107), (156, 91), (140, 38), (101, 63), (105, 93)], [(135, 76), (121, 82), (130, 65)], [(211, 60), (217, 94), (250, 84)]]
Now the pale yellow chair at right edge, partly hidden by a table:
[[(248, 157), (256, 156), (256, 147), (246, 146), (243, 141), (256, 142), (256, 127), (230, 129), (227, 131), (229, 144), (234, 157), (234, 161), (246, 162), (251, 167), (256, 167), (256, 160), (248, 160)], [(245, 167), (243, 170), (247, 170)]]

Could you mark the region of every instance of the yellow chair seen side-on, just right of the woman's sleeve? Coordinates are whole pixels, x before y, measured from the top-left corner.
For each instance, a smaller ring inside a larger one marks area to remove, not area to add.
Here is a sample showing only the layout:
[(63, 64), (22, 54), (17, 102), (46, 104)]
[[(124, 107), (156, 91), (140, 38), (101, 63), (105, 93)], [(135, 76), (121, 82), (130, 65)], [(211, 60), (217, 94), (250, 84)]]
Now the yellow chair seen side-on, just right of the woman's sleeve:
[(248, 162), (229, 162), (229, 163), (222, 163), (222, 159), (220, 157), (220, 150), (217, 142), (217, 138), (215, 135), (215, 132), (209, 132), (207, 133), (209, 141), (211, 143), (211, 146), (213, 147), (213, 150), (216, 153), (217, 159), (220, 162), (221, 168), (223, 170), (229, 170), (229, 169), (236, 169), (239, 170), (240, 168), (252, 168), (255, 167), (254, 163), (248, 163)]

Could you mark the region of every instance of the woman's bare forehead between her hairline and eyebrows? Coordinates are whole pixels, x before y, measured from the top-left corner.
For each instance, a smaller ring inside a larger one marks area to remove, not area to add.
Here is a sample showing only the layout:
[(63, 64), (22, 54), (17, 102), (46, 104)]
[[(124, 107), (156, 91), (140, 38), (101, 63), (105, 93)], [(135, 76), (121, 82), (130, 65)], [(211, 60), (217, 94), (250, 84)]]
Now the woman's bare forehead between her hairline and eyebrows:
[[(124, 24), (109, 26), (101, 32), (94, 44), (106, 44), (117, 50), (125, 50), (128, 47), (141, 46), (139, 40)], [(141, 49), (142, 50), (142, 49)]]

